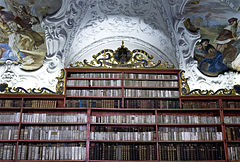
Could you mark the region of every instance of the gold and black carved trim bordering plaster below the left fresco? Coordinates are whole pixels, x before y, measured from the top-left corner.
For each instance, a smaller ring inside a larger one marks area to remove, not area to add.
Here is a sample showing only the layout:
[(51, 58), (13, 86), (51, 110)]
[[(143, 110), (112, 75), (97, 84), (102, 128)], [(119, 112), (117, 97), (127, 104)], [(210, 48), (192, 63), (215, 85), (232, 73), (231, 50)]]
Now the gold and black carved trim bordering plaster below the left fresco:
[(56, 77), (58, 80), (56, 84), (56, 92), (43, 87), (43, 88), (29, 88), (23, 87), (9, 87), (7, 83), (0, 84), (0, 94), (29, 94), (29, 95), (64, 95), (66, 72), (64, 69), (61, 70), (61, 75)]

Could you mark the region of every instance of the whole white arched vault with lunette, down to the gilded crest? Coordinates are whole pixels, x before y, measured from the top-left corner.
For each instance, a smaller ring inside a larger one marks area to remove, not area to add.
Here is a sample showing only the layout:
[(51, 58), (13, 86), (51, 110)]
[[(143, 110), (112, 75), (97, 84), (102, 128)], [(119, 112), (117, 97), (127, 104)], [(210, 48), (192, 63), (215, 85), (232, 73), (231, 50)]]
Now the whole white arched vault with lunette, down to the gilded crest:
[(129, 50), (145, 50), (156, 61), (178, 68), (172, 20), (164, 3), (163, 0), (63, 0), (59, 12), (45, 20), (48, 57), (56, 56), (68, 67), (76, 61), (91, 59), (103, 49), (116, 50), (124, 41)]

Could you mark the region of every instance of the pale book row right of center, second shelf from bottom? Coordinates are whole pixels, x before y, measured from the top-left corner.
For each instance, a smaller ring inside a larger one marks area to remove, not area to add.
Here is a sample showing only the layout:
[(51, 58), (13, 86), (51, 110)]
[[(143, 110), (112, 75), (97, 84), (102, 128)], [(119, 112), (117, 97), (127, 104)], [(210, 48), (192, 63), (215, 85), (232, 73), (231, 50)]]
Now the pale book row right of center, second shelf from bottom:
[(217, 127), (159, 127), (160, 141), (203, 141), (222, 140), (222, 132)]

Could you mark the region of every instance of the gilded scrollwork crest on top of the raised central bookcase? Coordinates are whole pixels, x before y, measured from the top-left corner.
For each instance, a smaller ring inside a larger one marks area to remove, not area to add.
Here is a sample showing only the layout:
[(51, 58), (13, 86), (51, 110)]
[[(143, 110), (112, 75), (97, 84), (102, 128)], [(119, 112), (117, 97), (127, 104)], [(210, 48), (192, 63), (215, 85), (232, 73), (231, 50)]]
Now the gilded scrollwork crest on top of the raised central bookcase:
[(153, 61), (153, 56), (144, 50), (135, 49), (130, 51), (124, 46), (122, 41), (121, 47), (117, 50), (104, 49), (98, 54), (92, 56), (90, 62), (86, 59), (83, 62), (70, 64), (72, 68), (142, 68), (142, 69), (173, 69), (168, 62), (162, 63), (160, 60)]

